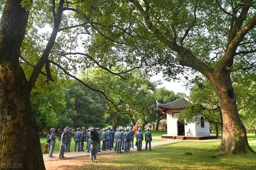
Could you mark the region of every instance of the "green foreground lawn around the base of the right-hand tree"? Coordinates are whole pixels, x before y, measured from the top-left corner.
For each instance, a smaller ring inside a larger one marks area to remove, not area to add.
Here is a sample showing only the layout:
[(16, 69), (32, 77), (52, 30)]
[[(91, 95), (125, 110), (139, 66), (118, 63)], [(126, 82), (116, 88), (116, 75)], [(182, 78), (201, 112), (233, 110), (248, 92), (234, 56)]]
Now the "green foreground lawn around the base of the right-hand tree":
[[(256, 150), (256, 135), (248, 134), (248, 142)], [(216, 152), (220, 141), (178, 142), (154, 147), (152, 151), (117, 154), (86, 164), (84, 169), (188, 169), (188, 170), (255, 170), (256, 154), (222, 155)], [(192, 155), (184, 155), (191, 152)]]

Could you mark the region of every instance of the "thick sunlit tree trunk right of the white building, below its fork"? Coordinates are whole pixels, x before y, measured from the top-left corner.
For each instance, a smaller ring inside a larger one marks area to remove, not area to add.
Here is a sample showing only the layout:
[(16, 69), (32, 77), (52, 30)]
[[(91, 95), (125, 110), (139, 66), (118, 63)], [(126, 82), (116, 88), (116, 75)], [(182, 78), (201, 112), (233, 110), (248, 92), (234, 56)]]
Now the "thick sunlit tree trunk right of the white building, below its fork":
[(218, 96), (223, 120), (222, 141), (218, 149), (232, 154), (254, 152), (248, 144), (246, 129), (238, 114), (230, 72), (224, 66), (219, 67), (210, 81)]

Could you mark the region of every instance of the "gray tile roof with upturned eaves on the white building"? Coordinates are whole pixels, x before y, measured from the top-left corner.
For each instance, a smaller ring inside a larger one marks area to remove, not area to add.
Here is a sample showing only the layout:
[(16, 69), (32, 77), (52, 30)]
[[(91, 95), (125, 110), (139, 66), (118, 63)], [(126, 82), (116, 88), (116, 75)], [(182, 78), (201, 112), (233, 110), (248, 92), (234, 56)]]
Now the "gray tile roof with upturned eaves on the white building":
[(170, 103), (162, 104), (156, 101), (157, 105), (166, 109), (185, 109), (191, 102), (186, 98), (180, 98)]

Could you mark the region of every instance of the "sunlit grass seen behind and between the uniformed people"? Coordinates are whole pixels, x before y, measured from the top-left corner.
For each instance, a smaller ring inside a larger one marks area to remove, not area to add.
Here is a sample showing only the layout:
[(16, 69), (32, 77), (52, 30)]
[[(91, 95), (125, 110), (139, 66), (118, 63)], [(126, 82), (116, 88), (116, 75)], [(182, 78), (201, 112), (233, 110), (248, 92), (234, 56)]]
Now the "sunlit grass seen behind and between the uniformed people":
[[(145, 131), (143, 131), (143, 134), (145, 135)], [(152, 131), (152, 136), (162, 136), (162, 134), (167, 134), (167, 131)], [(74, 135), (74, 133), (73, 133)], [(41, 148), (42, 148), (42, 152), (44, 153), (44, 144), (46, 143), (46, 136), (47, 135), (41, 135), (40, 136), (40, 143), (41, 143)], [(60, 137), (61, 134), (57, 134), (56, 137)], [(134, 145), (135, 145), (135, 141), (136, 139), (134, 139)], [(153, 142), (159, 142), (162, 141), (161, 139), (153, 139)], [(142, 142), (142, 144), (146, 143), (145, 141)], [(70, 151), (74, 150), (74, 140), (72, 138), (71, 144), (70, 144)], [(102, 141), (101, 141), (101, 147), (102, 147)], [(86, 148), (86, 142), (84, 143), (84, 150)], [(59, 152), (60, 151), (60, 142), (58, 140), (56, 140), (56, 144), (55, 144), (55, 148), (54, 148), (54, 153)], [(48, 153), (49, 153), (49, 149), (48, 149)]]

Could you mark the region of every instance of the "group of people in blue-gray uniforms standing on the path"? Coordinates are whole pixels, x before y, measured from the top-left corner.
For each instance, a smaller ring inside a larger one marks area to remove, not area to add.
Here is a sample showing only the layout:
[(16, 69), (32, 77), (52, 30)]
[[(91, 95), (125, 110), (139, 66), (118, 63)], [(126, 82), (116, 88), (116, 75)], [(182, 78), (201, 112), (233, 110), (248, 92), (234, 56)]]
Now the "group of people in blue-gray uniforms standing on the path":
[[(98, 141), (92, 140), (91, 131), (94, 130), (98, 133)], [(124, 150), (124, 152), (129, 152), (130, 148), (134, 148), (134, 135), (136, 137), (136, 146), (137, 150), (142, 150), (142, 141), (145, 139), (146, 146), (145, 150), (148, 149), (151, 150), (151, 141), (152, 141), (152, 135), (147, 129), (147, 132), (145, 133), (145, 138), (143, 136), (143, 133), (140, 128), (138, 128), (138, 131), (136, 134), (134, 134), (134, 130), (132, 130), (132, 127), (129, 129), (122, 129), (117, 128), (116, 131), (112, 128), (105, 128), (103, 129), (103, 132), (100, 132), (100, 128), (90, 128), (87, 129), (87, 133), (85, 128), (80, 131), (79, 128), (76, 129), (76, 132), (74, 133), (74, 152), (77, 151), (85, 151), (84, 150), (84, 142), (86, 141), (86, 150), (87, 152), (90, 152), (91, 155), (91, 162), (97, 162), (96, 154), (98, 152), (106, 151), (106, 150), (112, 150), (116, 151), (117, 153), (122, 153), (121, 150)], [(124, 131), (123, 131), (124, 130)], [(56, 139), (60, 141), (60, 152), (59, 152), (59, 159), (65, 158), (64, 152), (70, 152), (70, 143), (72, 140), (72, 131), (71, 128), (66, 127), (64, 129), (64, 132), (62, 133), (61, 137), (58, 138), (55, 136), (55, 129), (51, 128), (50, 133), (47, 136), (47, 143), (49, 145), (49, 157), (54, 158), (52, 156), (52, 152), (54, 151)], [(102, 148), (100, 147), (102, 141)], [(115, 143), (115, 147), (114, 147)]]

